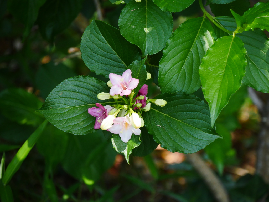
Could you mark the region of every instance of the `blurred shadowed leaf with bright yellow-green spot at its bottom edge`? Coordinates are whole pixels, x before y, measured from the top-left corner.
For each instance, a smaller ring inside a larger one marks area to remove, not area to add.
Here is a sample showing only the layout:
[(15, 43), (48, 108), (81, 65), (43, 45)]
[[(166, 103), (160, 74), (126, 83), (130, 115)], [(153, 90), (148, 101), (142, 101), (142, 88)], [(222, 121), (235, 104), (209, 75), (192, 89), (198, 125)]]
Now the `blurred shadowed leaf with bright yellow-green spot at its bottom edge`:
[(68, 136), (63, 169), (76, 179), (93, 184), (113, 165), (116, 152), (108, 145), (102, 130), (88, 135)]

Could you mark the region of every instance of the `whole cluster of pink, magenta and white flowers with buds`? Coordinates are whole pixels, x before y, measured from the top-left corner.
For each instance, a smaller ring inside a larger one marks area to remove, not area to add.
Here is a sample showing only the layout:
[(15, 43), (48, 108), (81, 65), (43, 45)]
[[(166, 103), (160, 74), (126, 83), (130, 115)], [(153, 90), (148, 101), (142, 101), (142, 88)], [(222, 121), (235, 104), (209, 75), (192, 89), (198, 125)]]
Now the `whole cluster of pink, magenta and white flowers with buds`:
[[(144, 126), (143, 111), (150, 110), (150, 103), (165, 106), (166, 101), (161, 99), (148, 99), (148, 86), (144, 84), (134, 97), (134, 89), (139, 84), (139, 79), (132, 78), (132, 71), (127, 69), (122, 76), (109, 74), (109, 93), (98, 93), (100, 100), (114, 99), (114, 105), (102, 106), (96, 103), (96, 107), (88, 109), (91, 116), (96, 117), (94, 129), (102, 129), (119, 134), (123, 142), (128, 142), (132, 134), (140, 135), (140, 127)], [(147, 79), (150, 79), (147, 74)]]

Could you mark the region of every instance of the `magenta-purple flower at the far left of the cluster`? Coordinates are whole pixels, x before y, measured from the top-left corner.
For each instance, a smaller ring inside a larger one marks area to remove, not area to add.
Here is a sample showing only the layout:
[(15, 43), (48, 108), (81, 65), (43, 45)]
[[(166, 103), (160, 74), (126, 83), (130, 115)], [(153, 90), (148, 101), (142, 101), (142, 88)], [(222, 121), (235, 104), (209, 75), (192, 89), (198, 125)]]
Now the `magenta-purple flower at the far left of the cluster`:
[(99, 107), (99, 108), (91, 107), (91, 108), (88, 109), (88, 113), (91, 114), (91, 116), (96, 117), (95, 124), (94, 124), (94, 129), (100, 129), (102, 121), (108, 116), (108, 113), (114, 107), (111, 107), (109, 105), (102, 106), (99, 103), (96, 103), (95, 105), (97, 107)]

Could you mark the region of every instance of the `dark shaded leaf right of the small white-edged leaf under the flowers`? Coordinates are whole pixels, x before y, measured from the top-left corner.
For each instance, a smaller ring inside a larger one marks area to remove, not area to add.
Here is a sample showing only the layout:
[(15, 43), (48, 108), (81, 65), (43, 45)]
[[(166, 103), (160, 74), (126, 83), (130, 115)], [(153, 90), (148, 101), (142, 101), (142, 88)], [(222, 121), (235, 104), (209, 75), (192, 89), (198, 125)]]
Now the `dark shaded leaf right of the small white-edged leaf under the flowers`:
[(153, 140), (153, 136), (148, 133), (146, 130), (146, 127), (140, 128), (141, 135), (140, 135), (140, 145), (133, 149), (132, 155), (133, 156), (147, 156), (151, 152), (154, 151), (154, 149), (157, 148), (158, 143)]

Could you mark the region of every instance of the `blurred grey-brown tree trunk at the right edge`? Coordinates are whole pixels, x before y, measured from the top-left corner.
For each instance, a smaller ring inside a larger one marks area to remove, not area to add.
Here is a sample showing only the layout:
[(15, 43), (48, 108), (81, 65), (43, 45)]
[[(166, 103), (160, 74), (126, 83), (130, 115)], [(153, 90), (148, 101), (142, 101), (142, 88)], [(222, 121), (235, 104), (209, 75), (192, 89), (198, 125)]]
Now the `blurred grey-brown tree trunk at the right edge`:
[(259, 109), (261, 116), (257, 148), (257, 174), (269, 183), (269, 94), (261, 93), (249, 87), (249, 95)]

